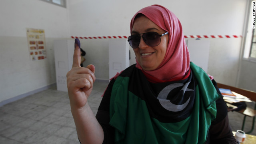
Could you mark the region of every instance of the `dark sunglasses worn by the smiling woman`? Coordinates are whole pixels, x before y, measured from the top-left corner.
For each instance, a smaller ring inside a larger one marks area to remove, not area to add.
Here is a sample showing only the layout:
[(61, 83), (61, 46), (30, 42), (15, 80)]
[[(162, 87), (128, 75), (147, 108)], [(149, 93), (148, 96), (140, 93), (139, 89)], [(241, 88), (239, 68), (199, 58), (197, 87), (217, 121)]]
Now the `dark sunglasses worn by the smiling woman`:
[[(158, 46), (161, 42), (161, 36), (168, 34), (158, 34), (157, 32), (146, 32), (142, 34), (142, 39), (148, 46)], [(128, 42), (132, 48), (138, 48), (141, 34), (134, 34), (128, 37)]]

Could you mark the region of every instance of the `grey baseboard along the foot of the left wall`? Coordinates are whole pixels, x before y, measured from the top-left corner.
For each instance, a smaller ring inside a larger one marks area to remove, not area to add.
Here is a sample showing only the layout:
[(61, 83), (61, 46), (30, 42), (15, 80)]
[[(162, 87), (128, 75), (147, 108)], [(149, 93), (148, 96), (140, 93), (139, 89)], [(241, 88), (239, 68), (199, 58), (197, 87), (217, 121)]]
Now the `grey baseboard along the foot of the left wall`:
[(46, 90), (46, 89), (48, 89), (48, 88), (50, 88), (50, 87), (52, 87), (52, 86), (56, 86), (56, 83), (49, 84), (49, 85), (44, 86), (44, 87), (42, 87), (42, 88), (38, 88), (38, 89), (36, 89), (36, 90), (32, 90), (32, 91), (30, 91), (30, 92), (27, 92), (27, 93), (25, 93), (25, 94), (21, 94), (21, 95), (15, 96), (15, 97), (13, 97), (13, 98), (9, 98), (9, 99), (7, 99), (7, 100), (4, 100), (4, 101), (0, 102), (0, 106), (4, 106), (5, 104), (8, 104), (8, 103), (10, 103), (10, 102), (14, 102), (14, 101), (16, 101), (16, 100), (20, 100), (20, 99), (22, 99), (22, 98), (25, 98), (26, 96), (30, 96), (31, 94), (35, 94), (35, 93), (37, 93), (37, 92), (41, 92), (42, 90)]

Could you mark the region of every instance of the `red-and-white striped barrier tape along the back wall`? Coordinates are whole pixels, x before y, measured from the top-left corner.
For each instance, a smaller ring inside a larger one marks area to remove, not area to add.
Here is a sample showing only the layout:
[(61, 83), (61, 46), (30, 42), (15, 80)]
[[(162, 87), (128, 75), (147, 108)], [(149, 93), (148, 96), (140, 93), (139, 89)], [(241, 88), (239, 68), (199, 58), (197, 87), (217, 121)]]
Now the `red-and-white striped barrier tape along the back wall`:
[[(190, 36), (184, 36), (184, 38), (239, 38), (242, 36), (237, 35), (190, 35)], [(82, 37), (82, 36), (71, 36), (71, 38), (80, 38), (80, 39), (111, 39), (111, 38), (128, 38), (128, 36), (88, 36), (88, 37)]]

